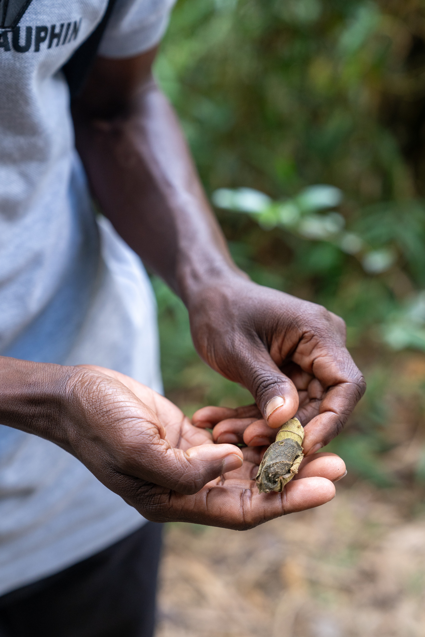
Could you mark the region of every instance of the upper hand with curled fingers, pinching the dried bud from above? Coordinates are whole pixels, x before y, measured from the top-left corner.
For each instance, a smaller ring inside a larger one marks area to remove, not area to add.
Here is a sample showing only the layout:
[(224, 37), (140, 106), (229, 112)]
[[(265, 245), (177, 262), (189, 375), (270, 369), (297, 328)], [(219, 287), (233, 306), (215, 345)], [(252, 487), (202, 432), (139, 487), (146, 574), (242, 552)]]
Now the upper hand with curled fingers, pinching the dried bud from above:
[[(251, 419), (245, 425), (227, 423), (234, 436), (217, 441), (235, 442), (245, 427), (246, 443), (265, 444), (274, 440), (270, 429), (296, 415), (305, 427), (305, 453), (314, 453), (341, 431), (363, 396), (363, 376), (345, 347), (345, 324), (322, 306), (235, 275), (199, 290), (189, 316), (201, 357), (247, 387), (259, 408), (243, 413)], [(223, 419), (240, 416), (223, 412), (215, 423)]]

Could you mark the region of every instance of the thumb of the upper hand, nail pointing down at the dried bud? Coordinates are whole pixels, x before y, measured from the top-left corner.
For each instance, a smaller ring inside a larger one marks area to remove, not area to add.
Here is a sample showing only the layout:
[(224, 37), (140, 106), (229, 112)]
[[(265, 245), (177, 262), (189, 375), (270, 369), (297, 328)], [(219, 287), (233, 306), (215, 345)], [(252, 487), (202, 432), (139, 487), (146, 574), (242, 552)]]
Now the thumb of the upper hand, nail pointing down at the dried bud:
[(298, 391), (268, 352), (254, 355), (242, 370), (243, 383), (250, 390), (269, 427), (281, 427), (298, 410)]

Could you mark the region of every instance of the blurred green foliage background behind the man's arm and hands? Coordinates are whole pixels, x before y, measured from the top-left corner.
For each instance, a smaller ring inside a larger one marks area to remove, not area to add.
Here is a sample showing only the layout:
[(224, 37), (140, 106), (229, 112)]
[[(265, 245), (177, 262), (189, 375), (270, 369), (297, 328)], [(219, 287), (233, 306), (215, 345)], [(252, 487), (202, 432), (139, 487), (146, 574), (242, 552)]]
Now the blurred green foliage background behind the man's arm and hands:
[[(425, 3), (179, 0), (156, 75), (208, 196), (250, 187), (292, 201), (328, 183), (343, 192), (347, 230), (374, 254), (393, 255), (367, 271), (335, 238), (217, 209), (235, 261), (253, 280), (345, 318), (370, 389), (333, 448), (370, 480), (393, 483), (381, 461), (391, 447), (391, 347), (425, 349)], [(199, 361), (184, 306), (164, 283), (154, 287), (167, 394), (187, 413), (249, 402), (246, 390)]]

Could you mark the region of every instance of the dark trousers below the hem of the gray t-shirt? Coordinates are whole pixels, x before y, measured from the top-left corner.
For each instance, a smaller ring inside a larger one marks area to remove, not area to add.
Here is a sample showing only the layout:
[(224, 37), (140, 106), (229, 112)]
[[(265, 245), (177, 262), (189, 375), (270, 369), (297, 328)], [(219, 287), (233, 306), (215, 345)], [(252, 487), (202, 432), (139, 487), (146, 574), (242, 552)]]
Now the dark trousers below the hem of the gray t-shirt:
[(0, 597), (0, 637), (152, 637), (162, 525)]

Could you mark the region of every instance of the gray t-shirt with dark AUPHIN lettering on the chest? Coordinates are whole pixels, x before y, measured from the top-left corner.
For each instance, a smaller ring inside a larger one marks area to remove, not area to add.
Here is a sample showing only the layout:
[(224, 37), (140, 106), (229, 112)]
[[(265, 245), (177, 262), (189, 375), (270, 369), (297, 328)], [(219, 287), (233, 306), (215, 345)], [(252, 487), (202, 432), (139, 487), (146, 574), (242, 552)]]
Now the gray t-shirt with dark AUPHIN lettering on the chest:
[[(154, 46), (172, 4), (117, 0), (99, 53)], [(6, 27), (21, 5), (10, 1)], [(96, 219), (60, 71), (106, 5), (32, 0), (13, 33), (0, 29), (0, 354), (99, 364), (161, 391), (152, 289), (134, 252)], [(143, 522), (73, 456), (0, 425), (0, 594)]]

